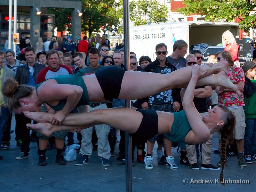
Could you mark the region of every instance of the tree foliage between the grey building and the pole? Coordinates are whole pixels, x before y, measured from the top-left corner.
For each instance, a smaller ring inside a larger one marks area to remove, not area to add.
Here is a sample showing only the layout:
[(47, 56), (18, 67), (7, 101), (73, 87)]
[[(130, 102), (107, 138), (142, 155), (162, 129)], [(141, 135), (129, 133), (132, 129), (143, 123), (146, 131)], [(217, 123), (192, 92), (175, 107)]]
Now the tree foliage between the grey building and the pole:
[(118, 3), (115, 0), (82, 0), (82, 31), (105, 33), (115, 31), (120, 24), (120, 15), (116, 12)]

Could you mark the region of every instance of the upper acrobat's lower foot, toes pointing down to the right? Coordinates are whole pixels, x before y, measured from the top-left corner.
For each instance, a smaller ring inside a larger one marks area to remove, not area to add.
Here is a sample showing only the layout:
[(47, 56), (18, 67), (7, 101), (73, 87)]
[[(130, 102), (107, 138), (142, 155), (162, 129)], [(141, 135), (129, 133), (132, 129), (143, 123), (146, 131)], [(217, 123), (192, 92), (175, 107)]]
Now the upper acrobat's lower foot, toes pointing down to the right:
[(228, 78), (228, 73), (225, 70), (221, 70), (218, 74), (216, 74), (216, 77), (219, 80), (219, 85), (223, 86), (231, 91), (234, 91), (237, 93), (237, 95), (240, 97), (241, 96), (241, 92), (238, 89), (238, 87), (236, 85), (234, 85), (230, 79)]

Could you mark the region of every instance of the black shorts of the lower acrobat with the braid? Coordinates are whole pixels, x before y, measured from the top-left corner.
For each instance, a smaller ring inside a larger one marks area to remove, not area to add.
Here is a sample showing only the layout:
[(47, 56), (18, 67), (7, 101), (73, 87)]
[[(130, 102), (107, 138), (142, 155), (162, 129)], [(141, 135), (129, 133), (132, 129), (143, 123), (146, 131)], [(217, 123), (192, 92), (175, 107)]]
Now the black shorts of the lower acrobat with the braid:
[(143, 117), (139, 129), (131, 134), (132, 137), (148, 140), (158, 134), (158, 115), (156, 111), (148, 109), (137, 109)]

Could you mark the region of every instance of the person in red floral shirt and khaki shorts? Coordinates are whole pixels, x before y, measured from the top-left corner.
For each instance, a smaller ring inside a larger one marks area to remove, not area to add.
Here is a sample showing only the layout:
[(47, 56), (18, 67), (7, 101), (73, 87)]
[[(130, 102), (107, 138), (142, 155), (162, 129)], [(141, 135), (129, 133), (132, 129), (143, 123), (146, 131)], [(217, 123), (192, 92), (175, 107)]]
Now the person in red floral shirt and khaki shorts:
[[(241, 92), (244, 89), (244, 71), (240, 67), (236, 67), (232, 60), (232, 56), (228, 51), (220, 51), (216, 54), (217, 62), (226, 60), (229, 63), (228, 77), (233, 84), (235, 84)], [(235, 139), (237, 146), (237, 163), (240, 167), (246, 167), (244, 163), (244, 134), (245, 134), (245, 115), (244, 115), (244, 95), (239, 97), (236, 92), (230, 91), (222, 86), (216, 88), (218, 94), (218, 105), (224, 105), (233, 111), (236, 115)], [(236, 154), (236, 151), (234, 151)], [(218, 163), (220, 165), (220, 163)]]

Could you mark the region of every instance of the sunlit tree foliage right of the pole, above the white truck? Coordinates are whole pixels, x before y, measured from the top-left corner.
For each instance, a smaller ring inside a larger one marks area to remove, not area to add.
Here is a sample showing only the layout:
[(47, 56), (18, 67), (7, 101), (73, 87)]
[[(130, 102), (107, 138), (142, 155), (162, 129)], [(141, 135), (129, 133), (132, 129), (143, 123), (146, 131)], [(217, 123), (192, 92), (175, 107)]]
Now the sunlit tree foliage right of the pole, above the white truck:
[(168, 10), (157, 0), (130, 1), (130, 20), (134, 25), (164, 23), (168, 18)]

